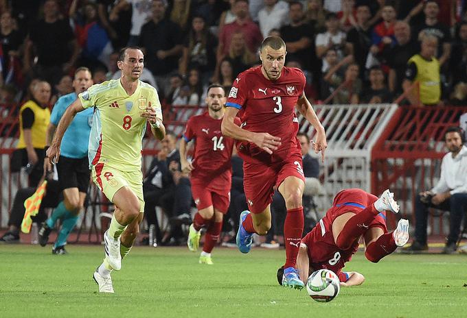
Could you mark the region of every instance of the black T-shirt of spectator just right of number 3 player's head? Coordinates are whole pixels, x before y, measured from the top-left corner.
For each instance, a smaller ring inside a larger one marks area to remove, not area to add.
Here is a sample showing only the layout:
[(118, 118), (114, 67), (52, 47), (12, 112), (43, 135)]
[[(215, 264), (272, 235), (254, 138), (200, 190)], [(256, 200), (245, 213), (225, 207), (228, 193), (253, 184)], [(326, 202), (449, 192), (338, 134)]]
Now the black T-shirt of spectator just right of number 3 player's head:
[(304, 23), (294, 27), (293, 25), (284, 25), (280, 29), (280, 34), (284, 42), (296, 42), (301, 38), (310, 40), (310, 47), (301, 49), (295, 53), (287, 52), (287, 60), (298, 60), (301, 66), (310, 71), (312, 61), (316, 60), (315, 56), (315, 36), (312, 25)]

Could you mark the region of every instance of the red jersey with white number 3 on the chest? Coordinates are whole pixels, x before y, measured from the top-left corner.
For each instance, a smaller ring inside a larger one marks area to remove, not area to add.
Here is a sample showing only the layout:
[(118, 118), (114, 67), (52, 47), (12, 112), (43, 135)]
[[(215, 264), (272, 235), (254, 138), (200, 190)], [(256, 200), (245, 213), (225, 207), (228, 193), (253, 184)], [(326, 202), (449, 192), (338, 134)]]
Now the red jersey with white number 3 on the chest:
[(294, 151), (300, 151), (295, 105), (304, 93), (306, 79), (301, 70), (284, 67), (281, 76), (271, 81), (262, 75), (261, 67), (253, 67), (238, 75), (226, 106), (240, 110), (244, 130), (268, 132), (281, 138), (282, 145), (272, 155), (253, 143), (239, 143), (240, 156), (249, 162), (279, 162)]

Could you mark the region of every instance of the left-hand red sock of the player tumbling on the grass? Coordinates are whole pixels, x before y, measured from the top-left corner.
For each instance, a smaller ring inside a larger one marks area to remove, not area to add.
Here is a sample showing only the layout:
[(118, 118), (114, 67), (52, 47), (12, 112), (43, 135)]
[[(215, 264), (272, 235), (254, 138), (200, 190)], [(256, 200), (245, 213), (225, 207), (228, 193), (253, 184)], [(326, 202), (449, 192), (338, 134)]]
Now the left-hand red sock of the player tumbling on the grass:
[(367, 232), (369, 223), (372, 223), (378, 213), (372, 204), (351, 217), (337, 236), (337, 247), (349, 249), (363, 233)]

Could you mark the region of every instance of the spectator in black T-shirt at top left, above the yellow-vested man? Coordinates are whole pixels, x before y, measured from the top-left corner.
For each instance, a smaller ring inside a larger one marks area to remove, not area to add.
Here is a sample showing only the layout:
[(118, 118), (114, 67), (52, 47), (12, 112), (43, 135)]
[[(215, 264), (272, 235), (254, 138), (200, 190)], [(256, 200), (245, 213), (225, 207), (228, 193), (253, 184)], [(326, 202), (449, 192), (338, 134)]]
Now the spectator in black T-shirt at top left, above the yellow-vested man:
[(25, 41), (25, 70), (32, 70), (37, 54), (34, 73), (48, 82), (62, 72), (69, 72), (79, 54), (79, 45), (69, 23), (60, 19), (57, 0), (46, 0), (43, 5), (44, 18), (37, 21)]

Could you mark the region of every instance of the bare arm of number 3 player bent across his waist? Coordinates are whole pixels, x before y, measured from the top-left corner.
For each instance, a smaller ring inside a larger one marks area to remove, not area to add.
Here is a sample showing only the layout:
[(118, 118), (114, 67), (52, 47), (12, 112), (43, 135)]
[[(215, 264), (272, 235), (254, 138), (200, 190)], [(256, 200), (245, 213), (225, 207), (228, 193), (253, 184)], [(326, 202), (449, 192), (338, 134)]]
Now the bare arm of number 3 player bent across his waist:
[(268, 154), (272, 154), (281, 145), (280, 137), (272, 136), (266, 132), (249, 132), (234, 123), (238, 109), (227, 107), (221, 125), (222, 134), (236, 140), (244, 140), (254, 143)]

